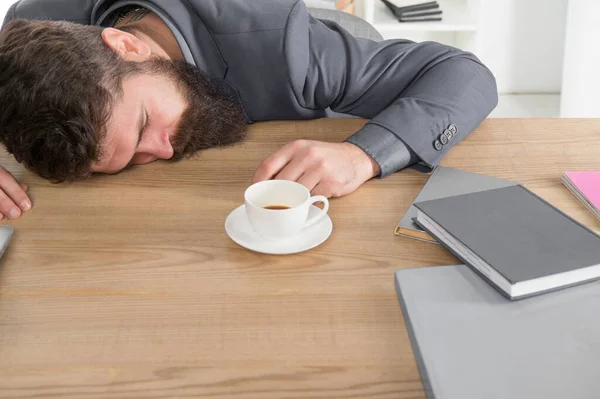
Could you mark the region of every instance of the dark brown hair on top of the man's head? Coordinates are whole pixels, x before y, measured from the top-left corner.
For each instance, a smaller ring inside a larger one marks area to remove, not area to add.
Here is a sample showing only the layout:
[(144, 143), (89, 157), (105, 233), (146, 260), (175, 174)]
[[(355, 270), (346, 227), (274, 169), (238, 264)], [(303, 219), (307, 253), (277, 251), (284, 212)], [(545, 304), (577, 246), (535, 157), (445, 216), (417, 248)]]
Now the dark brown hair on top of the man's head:
[(0, 142), (54, 183), (91, 175), (123, 78), (102, 28), (14, 20), (0, 33)]

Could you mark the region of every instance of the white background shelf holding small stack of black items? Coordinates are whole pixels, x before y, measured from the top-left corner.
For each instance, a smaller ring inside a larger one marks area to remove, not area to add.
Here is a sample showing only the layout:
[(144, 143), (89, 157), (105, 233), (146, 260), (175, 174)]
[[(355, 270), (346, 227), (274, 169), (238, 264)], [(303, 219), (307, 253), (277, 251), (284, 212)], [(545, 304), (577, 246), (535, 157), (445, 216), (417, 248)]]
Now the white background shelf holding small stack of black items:
[[(477, 23), (471, 15), (467, 0), (438, 0), (442, 10), (440, 22), (398, 22), (389, 8), (381, 0), (365, 0), (371, 2), (372, 20), (367, 13), (367, 20), (380, 31), (475, 31)], [(392, 0), (398, 7), (416, 4), (419, 0)], [(423, 0), (422, 2), (425, 2)]]

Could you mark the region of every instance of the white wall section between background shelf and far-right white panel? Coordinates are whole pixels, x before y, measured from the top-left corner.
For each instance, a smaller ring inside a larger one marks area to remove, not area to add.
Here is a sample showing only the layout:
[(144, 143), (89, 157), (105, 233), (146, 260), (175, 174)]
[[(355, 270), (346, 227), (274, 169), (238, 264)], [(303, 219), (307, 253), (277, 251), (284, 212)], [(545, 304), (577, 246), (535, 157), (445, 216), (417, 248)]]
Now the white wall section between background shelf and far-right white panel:
[(477, 56), (501, 93), (559, 93), (568, 0), (482, 0)]

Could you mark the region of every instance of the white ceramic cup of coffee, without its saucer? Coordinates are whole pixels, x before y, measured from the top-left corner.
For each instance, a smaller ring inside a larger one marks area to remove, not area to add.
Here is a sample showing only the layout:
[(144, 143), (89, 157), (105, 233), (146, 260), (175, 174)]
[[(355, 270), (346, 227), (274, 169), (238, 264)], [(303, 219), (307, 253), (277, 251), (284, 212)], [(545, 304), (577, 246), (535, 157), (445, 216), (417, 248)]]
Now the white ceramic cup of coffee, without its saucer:
[[(246, 189), (244, 200), (250, 225), (258, 235), (268, 240), (292, 237), (321, 220), (329, 210), (326, 197), (311, 197), (306, 187), (289, 180), (253, 184)], [(307, 220), (310, 206), (315, 202), (323, 202), (323, 210)], [(286, 206), (289, 209), (265, 209), (268, 206)]]

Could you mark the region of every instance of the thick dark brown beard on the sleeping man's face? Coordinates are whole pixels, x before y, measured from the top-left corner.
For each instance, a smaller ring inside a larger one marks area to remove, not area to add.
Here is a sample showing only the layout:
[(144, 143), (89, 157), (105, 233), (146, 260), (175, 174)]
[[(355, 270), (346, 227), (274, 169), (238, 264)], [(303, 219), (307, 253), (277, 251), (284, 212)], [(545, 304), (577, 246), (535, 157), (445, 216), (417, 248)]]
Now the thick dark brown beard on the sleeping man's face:
[(145, 73), (169, 78), (187, 103), (171, 140), (171, 160), (231, 146), (246, 137), (248, 121), (242, 105), (216, 79), (185, 61), (153, 59), (139, 67)]

